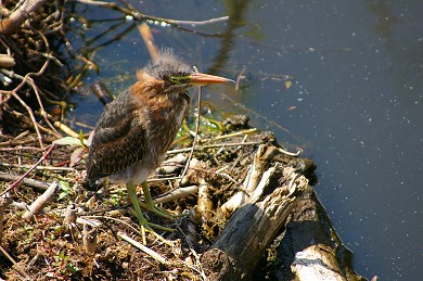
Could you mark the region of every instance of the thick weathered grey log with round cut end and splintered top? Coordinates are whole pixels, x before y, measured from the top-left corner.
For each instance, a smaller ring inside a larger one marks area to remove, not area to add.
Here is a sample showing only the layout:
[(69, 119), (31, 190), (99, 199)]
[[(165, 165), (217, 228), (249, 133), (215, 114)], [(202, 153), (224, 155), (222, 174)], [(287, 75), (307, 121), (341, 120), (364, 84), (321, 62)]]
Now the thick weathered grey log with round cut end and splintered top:
[(209, 279), (251, 278), (258, 260), (308, 186), (308, 180), (293, 170), (284, 168), (283, 175), (274, 173), (269, 184), (273, 191), (264, 200), (248, 203), (233, 214), (222, 233), (202, 256)]

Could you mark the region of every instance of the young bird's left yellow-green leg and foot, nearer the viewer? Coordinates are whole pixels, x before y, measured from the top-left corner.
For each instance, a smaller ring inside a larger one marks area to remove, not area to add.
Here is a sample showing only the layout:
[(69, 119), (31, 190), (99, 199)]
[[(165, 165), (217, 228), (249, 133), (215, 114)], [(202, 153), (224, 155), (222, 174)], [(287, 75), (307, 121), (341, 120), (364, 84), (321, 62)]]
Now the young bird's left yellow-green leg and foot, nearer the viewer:
[(146, 218), (142, 214), (140, 203), (139, 203), (138, 196), (137, 196), (136, 186), (129, 181), (129, 182), (127, 182), (126, 187), (128, 190), (128, 196), (129, 196), (130, 201), (132, 202), (132, 205), (133, 205), (133, 208), (136, 212), (136, 216), (138, 218), (138, 222), (140, 223), (140, 227), (141, 227), (142, 243), (144, 245), (146, 244), (145, 231), (153, 233), (157, 239), (162, 240), (163, 242), (169, 243), (169, 241), (167, 241), (163, 237), (158, 235), (152, 228), (156, 228), (156, 229), (161, 229), (161, 230), (165, 230), (165, 231), (174, 231), (174, 230), (170, 228), (165, 228), (165, 227), (149, 222), (149, 220), (146, 220)]

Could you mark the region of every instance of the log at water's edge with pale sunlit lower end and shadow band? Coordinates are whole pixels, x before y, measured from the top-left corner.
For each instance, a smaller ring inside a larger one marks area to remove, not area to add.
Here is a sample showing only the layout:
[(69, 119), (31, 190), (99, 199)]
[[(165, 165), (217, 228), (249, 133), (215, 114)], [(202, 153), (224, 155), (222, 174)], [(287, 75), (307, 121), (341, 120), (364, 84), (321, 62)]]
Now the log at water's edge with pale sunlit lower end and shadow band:
[(343, 245), (311, 187), (292, 209), (279, 244), (275, 280), (366, 280), (351, 266)]

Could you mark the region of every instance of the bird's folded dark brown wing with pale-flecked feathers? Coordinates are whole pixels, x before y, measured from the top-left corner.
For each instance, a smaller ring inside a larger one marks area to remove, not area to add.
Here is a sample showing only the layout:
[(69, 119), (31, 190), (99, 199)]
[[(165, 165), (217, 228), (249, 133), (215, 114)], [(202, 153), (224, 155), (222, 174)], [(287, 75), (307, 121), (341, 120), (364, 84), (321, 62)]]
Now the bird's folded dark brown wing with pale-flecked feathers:
[(95, 126), (86, 159), (90, 181), (121, 171), (144, 157), (146, 131), (133, 114), (139, 101), (127, 91), (120, 95), (107, 105)]

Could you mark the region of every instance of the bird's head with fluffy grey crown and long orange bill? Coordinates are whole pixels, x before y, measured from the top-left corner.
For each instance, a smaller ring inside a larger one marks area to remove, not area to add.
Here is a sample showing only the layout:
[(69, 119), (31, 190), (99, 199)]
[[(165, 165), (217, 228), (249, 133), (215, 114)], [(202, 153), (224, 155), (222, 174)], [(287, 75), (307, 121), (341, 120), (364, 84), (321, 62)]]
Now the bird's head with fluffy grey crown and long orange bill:
[(164, 49), (157, 59), (145, 66), (139, 74), (141, 80), (144, 76), (154, 80), (162, 87), (163, 93), (183, 93), (191, 86), (205, 86), (209, 84), (223, 84), (233, 81), (220, 76), (196, 73), (183, 63), (171, 49)]

